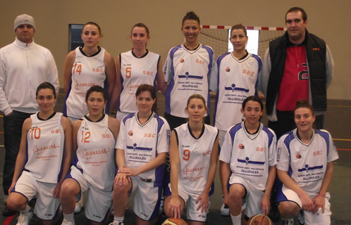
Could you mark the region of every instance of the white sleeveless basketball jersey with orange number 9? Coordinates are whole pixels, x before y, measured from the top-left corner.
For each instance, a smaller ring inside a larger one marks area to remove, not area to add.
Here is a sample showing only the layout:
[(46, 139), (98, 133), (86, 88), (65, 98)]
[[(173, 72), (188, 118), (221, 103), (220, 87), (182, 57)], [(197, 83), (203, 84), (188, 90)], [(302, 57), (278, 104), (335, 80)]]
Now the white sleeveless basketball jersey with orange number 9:
[(204, 124), (198, 139), (192, 135), (189, 123), (174, 129), (179, 150), (178, 184), (190, 193), (202, 193), (207, 183), (211, 151), (218, 129)]

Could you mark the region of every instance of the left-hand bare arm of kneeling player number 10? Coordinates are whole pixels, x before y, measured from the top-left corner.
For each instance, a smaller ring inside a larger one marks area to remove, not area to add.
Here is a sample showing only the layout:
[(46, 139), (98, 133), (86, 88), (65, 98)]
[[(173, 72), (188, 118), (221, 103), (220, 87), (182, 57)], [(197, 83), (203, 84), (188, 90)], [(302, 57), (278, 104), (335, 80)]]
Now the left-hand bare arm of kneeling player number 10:
[(25, 122), (23, 122), (22, 136), (20, 139), (20, 150), (18, 151), (18, 155), (16, 158), (15, 172), (13, 173), (12, 184), (8, 189), (8, 193), (11, 193), (13, 186), (15, 186), (16, 181), (18, 180), (20, 174), (23, 171), (23, 167), (25, 167), (25, 160), (27, 159), (27, 134), (31, 127), (32, 119), (27, 118)]

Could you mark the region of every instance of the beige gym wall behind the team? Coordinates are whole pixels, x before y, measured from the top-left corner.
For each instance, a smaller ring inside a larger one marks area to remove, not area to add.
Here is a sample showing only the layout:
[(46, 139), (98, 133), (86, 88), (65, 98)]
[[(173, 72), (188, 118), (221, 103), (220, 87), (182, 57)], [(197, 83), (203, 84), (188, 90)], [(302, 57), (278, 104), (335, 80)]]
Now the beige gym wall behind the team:
[(328, 98), (350, 100), (350, 0), (0, 0), (0, 47), (13, 41), (16, 16), (23, 13), (32, 15), (37, 27), (35, 41), (54, 55), (62, 87), (69, 23), (98, 23), (104, 34), (100, 45), (114, 58), (131, 48), (128, 37), (131, 27), (135, 23), (144, 23), (149, 27), (151, 36), (148, 49), (161, 54), (164, 61), (168, 50), (183, 42), (180, 25), (187, 11), (195, 11), (202, 25), (242, 23), (247, 26), (283, 27), (285, 13), (293, 6), (304, 8), (308, 15), (309, 32), (323, 38), (333, 54), (335, 75), (328, 89)]

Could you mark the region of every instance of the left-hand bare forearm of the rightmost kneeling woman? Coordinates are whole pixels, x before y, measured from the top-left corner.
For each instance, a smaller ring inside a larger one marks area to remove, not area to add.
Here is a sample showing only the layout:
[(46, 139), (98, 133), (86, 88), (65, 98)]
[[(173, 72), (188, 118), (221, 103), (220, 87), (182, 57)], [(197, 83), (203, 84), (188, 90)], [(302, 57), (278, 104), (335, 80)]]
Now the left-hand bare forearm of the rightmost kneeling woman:
[(278, 178), (283, 182), (283, 184), (290, 190), (293, 190), (299, 196), (302, 203), (302, 208), (304, 210), (312, 212), (313, 202), (311, 198), (309, 198), (309, 195), (307, 195), (307, 193), (304, 192), (299, 186), (297, 186), (295, 181), (291, 179), (291, 177), (288, 175), (288, 171), (277, 169), (277, 174)]

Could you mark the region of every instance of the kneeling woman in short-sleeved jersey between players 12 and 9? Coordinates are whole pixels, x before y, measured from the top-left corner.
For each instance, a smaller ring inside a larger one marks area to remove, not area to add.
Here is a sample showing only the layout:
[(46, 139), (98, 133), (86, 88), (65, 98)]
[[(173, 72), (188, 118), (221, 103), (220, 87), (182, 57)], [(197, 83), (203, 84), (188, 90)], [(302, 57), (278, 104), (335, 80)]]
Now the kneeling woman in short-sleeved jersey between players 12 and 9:
[(156, 113), (154, 86), (142, 84), (135, 93), (137, 113), (123, 117), (116, 143), (118, 174), (113, 186), (115, 217), (110, 225), (123, 224), (128, 195), (136, 191), (136, 224), (154, 224), (159, 215), (164, 162), (171, 131)]

